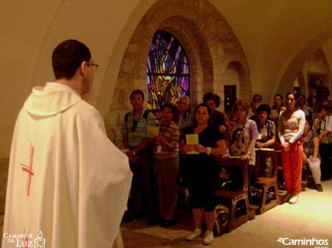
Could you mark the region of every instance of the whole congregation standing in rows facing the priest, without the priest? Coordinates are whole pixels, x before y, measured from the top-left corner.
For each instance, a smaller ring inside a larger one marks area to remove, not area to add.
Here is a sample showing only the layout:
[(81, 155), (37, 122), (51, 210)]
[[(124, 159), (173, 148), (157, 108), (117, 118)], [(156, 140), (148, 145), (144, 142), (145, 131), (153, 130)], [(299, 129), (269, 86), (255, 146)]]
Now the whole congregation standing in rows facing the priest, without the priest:
[[(332, 120), (325, 122), (327, 115), (322, 110), (313, 125), (311, 118), (314, 113), (308, 118), (303, 110), (307, 107), (301, 105), (300, 95), (296, 91), (288, 92), (285, 105), (280, 94), (274, 96), (272, 109), (269, 105), (261, 104), (261, 96), (260, 99), (258, 96), (252, 109), (246, 100), (235, 102), (233, 118), (229, 120), (216, 109), (220, 105), (218, 95), (212, 92), (205, 94), (203, 103), (196, 107), (193, 115), (188, 111), (190, 99), (181, 96), (177, 107), (166, 104), (161, 108), (161, 120), (156, 124), (153, 114), (143, 107), (143, 92), (132, 92), (130, 100), (133, 111), (125, 115), (121, 131), (133, 171), (128, 210), (123, 221), (142, 217), (145, 206), (149, 225), (161, 223), (163, 227), (168, 227), (176, 223), (180, 167), (190, 195), (195, 228), (186, 239), (193, 240), (201, 236), (205, 222), (203, 243), (212, 243), (212, 228), (216, 218), (214, 190), (220, 172), (214, 156), (223, 156), (225, 159), (240, 156), (248, 160), (248, 198), (251, 202), (251, 176), (272, 174), (272, 162), (268, 158), (256, 161), (255, 148), (271, 148), (277, 142), (280, 143), (283, 177), (288, 191), (286, 201), (290, 204), (298, 202), (304, 158), (313, 171), (317, 190), (322, 191), (320, 179), (317, 179), (320, 178), (317, 145), (320, 136), (331, 133), (328, 123), (332, 124)], [(325, 105), (322, 107), (327, 108)], [(253, 116), (249, 118), (251, 114)], [(159, 133), (147, 137), (147, 128), (156, 125), (159, 126)], [(318, 129), (320, 136), (315, 135), (316, 131), (311, 129), (313, 126)], [(255, 165), (258, 165), (257, 169)], [(158, 197), (153, 191), (153, 171), (157, 175)], [(236, 178), (233, 177), (233, 180), (236, 181)], [(155, 201), (157, 198), (159, 208)]]

